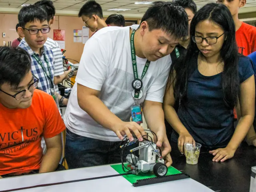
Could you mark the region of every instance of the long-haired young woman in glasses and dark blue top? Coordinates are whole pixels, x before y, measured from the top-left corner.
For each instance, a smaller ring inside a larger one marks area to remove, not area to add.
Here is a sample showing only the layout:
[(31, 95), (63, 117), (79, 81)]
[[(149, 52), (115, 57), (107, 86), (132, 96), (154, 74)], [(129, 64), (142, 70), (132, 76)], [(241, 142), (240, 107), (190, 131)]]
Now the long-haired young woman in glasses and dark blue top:
[[(235, 24), (225, 5), (202, 7), (190, 25), (191, 41), (184, 59), (175, 62), (164, 98), (165, 118), (174, 128), (171, 141), (184, 153), (195, 142), (213, 161), (234, 156), (254, 119), (255, 83), (250, 59), (239, 55)], [(173, 106), (179, 100), (176, 113)], [(236, 129), (233, 109), (241, 107)]]

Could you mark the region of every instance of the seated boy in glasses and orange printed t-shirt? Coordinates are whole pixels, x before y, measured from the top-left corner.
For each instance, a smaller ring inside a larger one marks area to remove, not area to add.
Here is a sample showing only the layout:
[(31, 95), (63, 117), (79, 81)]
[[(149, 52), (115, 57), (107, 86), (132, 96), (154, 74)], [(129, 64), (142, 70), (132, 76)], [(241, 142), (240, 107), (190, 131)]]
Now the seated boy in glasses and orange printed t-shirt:
[(65, 125), (52, 96), (36, 89), (30, 68), (25, 50), (0, 47), (0, 178), (55, 171), (61, 159)]

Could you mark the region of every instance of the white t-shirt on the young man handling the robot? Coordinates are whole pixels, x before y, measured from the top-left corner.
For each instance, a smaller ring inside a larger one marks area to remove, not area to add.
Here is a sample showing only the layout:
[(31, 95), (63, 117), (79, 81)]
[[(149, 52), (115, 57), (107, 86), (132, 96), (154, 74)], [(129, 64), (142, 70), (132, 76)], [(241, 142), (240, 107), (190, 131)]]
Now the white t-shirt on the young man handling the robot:
[[(138, 25), (132, 26), (137, 28)], [(141, 77), (147, 59), (136, 56), (138, 77)], [(170, 55), (151, 62), (143, 82), (143, 97), (138, 100), (163, 102), (164, 91), (171, 66)], [(84, 137), (105, 141), (120, 141), (116, 134), (102, 127), (83, 111), (77, 101), (77, 83), (99, 90), (99, 99), (123, 121), (130, 121), (130, 107), (134, 104), (134, 80), (130, 27), (105, 27), (97, 31), (85, 44), (64, 115), (66, 127)], [(98, 111), (100, 114), (101, 111)]]

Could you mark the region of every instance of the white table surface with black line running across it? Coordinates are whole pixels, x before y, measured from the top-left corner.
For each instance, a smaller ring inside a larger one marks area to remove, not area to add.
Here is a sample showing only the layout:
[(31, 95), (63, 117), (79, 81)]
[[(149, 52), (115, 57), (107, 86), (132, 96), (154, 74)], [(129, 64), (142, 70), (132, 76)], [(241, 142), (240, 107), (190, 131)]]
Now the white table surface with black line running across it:
[[(17, 188), (31, 187), (36, 185), (86, 179), (92, 177), (102, 177), (118, 174), (111, 166), (97, 166), (80, 169), (58, 171), (52, 173), (41, 173), (27, 176), (18, 176), (0, 179), (0, 192), (5, 190), (14, 190)], [(189, 178), (177, 181), (133, 187), (123, 176), (94, 179), (73, 183), (58, 184), (30, 189), (17, 190), (17, 192), (212, 192), (208, 187)]]

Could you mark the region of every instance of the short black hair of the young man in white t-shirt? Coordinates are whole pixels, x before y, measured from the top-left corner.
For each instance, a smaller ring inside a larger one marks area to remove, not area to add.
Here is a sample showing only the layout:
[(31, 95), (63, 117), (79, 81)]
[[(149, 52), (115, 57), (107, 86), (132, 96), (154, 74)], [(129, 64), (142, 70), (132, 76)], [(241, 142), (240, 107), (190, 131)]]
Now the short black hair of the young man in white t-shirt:
[(177, 39), (188, 36), (188, 15), (184, 8), (172, 2), (156, 1), (141, 19), (149, 30), (162, 29)]

